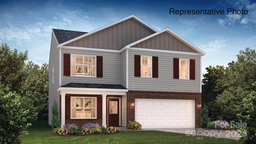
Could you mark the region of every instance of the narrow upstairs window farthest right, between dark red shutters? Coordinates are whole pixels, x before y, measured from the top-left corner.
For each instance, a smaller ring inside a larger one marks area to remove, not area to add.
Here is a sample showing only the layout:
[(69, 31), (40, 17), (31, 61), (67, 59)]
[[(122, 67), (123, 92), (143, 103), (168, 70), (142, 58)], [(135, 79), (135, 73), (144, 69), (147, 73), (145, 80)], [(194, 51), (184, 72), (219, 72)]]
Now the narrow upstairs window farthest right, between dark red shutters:
[(180, 59), (179, 60), (179, 73), (181, 79), (189, 78), (189, 60), (188, 59)]

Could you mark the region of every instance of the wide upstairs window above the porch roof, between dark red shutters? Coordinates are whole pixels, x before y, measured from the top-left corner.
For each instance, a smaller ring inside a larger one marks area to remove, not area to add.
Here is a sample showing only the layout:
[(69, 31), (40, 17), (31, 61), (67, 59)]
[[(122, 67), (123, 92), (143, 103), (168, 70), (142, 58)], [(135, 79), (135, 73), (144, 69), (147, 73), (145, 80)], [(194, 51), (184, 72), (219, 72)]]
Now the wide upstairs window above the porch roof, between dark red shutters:
[(96, 56), (71, 54), (72, 76), (96, 76)]

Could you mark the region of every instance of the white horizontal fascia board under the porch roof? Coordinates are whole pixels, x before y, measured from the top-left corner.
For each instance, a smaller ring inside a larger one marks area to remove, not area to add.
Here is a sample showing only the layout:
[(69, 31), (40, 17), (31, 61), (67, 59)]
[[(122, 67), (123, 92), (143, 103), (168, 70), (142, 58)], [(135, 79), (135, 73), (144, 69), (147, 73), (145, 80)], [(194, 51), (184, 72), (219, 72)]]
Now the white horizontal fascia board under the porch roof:
[(57, 91), (70, 94), (96, 94), (96, 95), (126, 95), (127, 89), (104, 89), (104, 88), (66, 88), (60, 87)]

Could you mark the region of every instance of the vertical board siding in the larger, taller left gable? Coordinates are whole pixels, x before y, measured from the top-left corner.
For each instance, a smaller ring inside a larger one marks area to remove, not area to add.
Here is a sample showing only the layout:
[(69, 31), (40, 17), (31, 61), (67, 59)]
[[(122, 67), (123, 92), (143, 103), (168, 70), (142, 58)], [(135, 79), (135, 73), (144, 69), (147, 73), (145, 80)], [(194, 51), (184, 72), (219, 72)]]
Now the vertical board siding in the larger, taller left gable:
[(153, 33), (154, 31), (130, 18), (102, 31), (78, 39), (67, 44), (67, 46), (120, 50), (124, 46)]

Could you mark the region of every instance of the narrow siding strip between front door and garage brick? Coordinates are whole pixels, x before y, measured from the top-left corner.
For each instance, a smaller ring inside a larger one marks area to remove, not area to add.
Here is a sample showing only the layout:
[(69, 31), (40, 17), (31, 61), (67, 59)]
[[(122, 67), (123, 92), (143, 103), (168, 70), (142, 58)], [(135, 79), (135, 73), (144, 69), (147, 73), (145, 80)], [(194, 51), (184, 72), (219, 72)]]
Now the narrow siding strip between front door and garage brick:
[(126, 95), (122, 95), (121, 102), (121, 126), (126, 127), (127, 125), (127, 97)]

